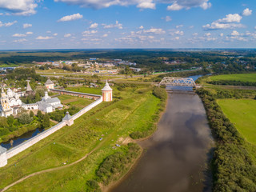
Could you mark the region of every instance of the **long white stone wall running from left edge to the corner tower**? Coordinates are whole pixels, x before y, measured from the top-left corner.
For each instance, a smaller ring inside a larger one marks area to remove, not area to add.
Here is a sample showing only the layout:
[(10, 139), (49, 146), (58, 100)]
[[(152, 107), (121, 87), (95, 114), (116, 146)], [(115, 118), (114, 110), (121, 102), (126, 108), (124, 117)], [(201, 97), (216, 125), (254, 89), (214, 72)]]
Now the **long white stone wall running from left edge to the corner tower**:
[[(71, 116), (71, 120), (74, 121), (75, 119), (82, 116), (82, 114), (85, 114), (88, 110), (91, 110), (94, 108), (94, 106), (98, 106), (99, 103), (102, 102), (102, 96), (98, 95), (98, 100), (91, 103), (89, 106), (86, 106), (82, 110), (78, 111), (77, 114), (74, 114)], [(66, 121), (59, 122), (57, 125), (51, 127), (49, 130), (43, 131), (41, 134), (38, 134), (34, 136), (34, 138), (30, 138), (26, 142), (23, 142), (22, 144), (15, 146), (11, 150), (7, 150), (6, 153), (0, 154), (0, 167), (5, 166), (7, 159), (14, 157), (14, 155), (22, 152), (23, 150), (26, 150), (30, 146), (33, 146), (35, 143), (41, 141), (43, 138), (48, 137), (50, 134), (53, 134), (55, 131), (62, 129), (63, 126), (66, 126), (68, 123)]]

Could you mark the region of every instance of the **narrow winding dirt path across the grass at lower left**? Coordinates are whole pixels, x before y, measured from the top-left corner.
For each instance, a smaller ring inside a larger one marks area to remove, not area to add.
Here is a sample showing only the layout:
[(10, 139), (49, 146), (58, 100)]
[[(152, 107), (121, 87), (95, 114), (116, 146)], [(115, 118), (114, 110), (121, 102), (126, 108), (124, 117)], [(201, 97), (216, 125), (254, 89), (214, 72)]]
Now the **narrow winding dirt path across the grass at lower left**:
[(74, 166), (74, 165), (77, 164), (78, 162), (82, 162), (82, 160), (84, 160), (85, 158), (87, 158), (87, 157), (88, 157), (90, 154), (92, 154), (95, 150), (98, 150), (98, 148), (101, 147), (103, 143), (104, 143), (104, 142), (101, 142), (98, 146), (96, 146), (96, 147), (94, 148), (94, 150), (91, 150), (90, 153), (88, 153), (88, 154), (86, 154), (85, 156), (83, 156), (82, 158), (78, 159), (76, 162), (72, 162), (72, 163), (70, 163), (70, 164), (68, 164), (68, 165), (66, 165), (66, 166), (58, 166), (58, 167), (51, 168), (51, 169), (48, 169), (48, 170), (41, 170), (41, 171), (35, 172), (35, 173), (33, 173), (33, 174), (29, 174), (29, 175), (27, 175), (27, 176), (25, 176), (25, 177), (23, 177), (23, 178), (20, 178), (18, 181), (11, 183), (9, 186), (4, 187), (4, 188), (3, 188), (2, 190), (0, 190), (0, 191), (1, 191), (1, 192), (6, 191), (6, 190), (8, 190), (10, 187), (15, 186), (16, 184), (18, 184), (18, 183), (20, 183), (20, 182), (23, 182), (23, 181), (26, 180), (27, 178), (34, 177), (34, 176), (36, 176), (36, 175), (38, 175), (38, 174), (44, 174), (44, 173), (48, 173), (48, 172), (50, 172), (50, 171), (62, 170), (62, 169), (64, 169), (64, 168), (66, 168), (66, 167)]

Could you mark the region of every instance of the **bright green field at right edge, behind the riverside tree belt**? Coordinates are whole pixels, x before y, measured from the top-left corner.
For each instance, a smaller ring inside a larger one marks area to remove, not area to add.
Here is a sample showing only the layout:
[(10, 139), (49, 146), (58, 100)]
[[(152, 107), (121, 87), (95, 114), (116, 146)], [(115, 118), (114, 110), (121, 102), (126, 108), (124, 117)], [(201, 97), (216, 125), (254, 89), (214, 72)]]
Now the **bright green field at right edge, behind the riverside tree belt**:
[(219, 99), (218, 105), (242, 136), (256, 145), (256, 100)]

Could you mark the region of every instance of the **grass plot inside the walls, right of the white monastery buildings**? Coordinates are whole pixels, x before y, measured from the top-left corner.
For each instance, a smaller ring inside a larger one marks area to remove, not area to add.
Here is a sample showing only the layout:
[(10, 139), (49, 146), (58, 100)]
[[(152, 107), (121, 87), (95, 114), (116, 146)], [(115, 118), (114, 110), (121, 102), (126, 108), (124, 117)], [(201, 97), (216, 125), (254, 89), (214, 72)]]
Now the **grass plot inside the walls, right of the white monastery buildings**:
[(94, 100), (86, 99), (86, 98), (77, 98), (70, 95), (60, 95), (58, 98), (61, 100), (62, 104), (76, 106), (78, 108), (83, 108), (88, 106), (90, 103), (94, 102)]

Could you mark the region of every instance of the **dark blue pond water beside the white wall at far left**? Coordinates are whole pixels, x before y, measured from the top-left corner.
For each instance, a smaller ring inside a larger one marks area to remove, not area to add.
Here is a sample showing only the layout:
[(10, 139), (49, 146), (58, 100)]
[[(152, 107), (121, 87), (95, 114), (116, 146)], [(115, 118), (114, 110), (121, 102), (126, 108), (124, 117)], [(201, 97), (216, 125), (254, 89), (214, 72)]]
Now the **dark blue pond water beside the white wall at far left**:
[(42, 131), (44, 131), (44, 129), (31, 130), (30, 132), (27, 132), (26, 134), (22, 134), (17, 138), (12, 138), (12, 140), (14, 141), (13, 146), (10, 145), (10, 141), (2, 142), (0, 146), (5, 147), (7, 150), (9, 150), (11, 147), (18, 146), (22, 142), (25, 142), (26, 140), (33, 138), (37, 134), (42, 133)]

